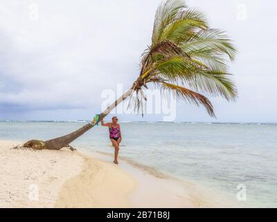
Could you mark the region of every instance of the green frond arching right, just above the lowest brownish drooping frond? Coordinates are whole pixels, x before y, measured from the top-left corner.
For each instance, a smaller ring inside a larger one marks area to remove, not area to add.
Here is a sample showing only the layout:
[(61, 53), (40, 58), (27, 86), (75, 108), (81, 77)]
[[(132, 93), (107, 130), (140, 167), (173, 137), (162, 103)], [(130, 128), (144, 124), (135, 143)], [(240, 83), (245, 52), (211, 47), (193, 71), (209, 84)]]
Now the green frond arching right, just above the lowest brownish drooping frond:
[(159, 77), (173, 84), (188, 85), (210, 96), (222, 96), (228, 101), (235, 101), (238, 96), (231, 74), (224, 70), (209, 69), (199, 60), (174, 57), (157, 63), (155, 69), (156, 72), (148, 76), (149, 82), (151, 78)]

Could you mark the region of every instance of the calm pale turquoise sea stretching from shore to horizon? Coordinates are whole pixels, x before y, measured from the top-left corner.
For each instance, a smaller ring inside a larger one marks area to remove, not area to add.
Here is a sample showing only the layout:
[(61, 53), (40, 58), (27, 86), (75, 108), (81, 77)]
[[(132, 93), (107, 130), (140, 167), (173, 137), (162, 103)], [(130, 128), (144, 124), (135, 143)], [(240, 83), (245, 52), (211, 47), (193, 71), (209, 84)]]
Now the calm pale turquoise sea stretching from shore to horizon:
[[(0, 139), (51, 139), (83, 126), (75, 122), (0, 122)], [(120, 157), (157, 173), (196, 182), (245, 207), (277, 207), (277, 124), (120, 123)], [(108, 129), (97, 126), (73, 142), (92, 153), (113, 153)]]

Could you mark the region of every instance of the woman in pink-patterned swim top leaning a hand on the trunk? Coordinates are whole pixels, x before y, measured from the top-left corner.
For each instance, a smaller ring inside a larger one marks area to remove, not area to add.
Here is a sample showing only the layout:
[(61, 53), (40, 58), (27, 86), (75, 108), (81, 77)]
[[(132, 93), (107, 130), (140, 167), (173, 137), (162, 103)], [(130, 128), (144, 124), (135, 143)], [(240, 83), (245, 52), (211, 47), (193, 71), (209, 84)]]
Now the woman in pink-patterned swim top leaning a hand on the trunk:
[(114, 163), (118, 164), (118, 152), (119, 152), (119, 144), (122, 141), (121, 131), (120, 131), (120, 125), (117, 123), (118, 118), (112, 117), (111, 123), (104, 123), (104, 121), (101, 121), (102, 126), (108, 126), (109, 127), (109, 139), (111, 139), (111, 143), (114, 145)]

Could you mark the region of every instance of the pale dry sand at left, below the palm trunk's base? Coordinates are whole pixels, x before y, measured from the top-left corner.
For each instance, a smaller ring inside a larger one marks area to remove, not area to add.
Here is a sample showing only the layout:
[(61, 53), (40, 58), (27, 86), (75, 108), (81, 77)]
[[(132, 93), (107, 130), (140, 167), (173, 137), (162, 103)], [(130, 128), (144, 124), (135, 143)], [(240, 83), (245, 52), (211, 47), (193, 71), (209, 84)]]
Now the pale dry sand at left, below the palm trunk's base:
[(53, 207), (64, 182), (82, 171), (84, 160), (66, 149), (11, 149), (21, 143), (0, 142), (0, 207)]

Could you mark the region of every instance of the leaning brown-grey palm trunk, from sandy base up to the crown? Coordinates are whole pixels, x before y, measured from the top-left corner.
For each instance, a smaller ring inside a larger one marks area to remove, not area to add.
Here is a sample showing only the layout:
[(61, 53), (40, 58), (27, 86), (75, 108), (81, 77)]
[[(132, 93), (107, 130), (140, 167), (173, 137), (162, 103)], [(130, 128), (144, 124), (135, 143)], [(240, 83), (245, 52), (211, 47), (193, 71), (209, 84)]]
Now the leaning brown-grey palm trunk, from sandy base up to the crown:
[[(116, 106), (123, 102), (125, 99), (127, 99), (128, 96), (132, 94), (134, 89), (136, 89), (137, 81), (133, 84), (132, 88), (127, 90), (122, 96), (120, 96), (114, 103), (112, 103), (104, 112), (100, 114), (100, 117), (98, 119), (99, 121), (102, 121), (111, 110), (114, 110)], [(73, 142), (75, 139), (83, 135), (87, 132), (87, 130), (90, 130), (93, 128), (93, 126), (96, 126), (96, 123), (88, 123), (85, 126), (82, 126), (78, 130), (75, 130), (73, 133), (69, 133), (68, 135), (64, 135), (62, 137), (57, 137), (55, 139), (49, 139), (46, 141), (41, 140), (30, 140), (26, 142), (23, 145), (15, 146), (15, 148), (21, 148), (21, 147), (28, 147), (28, 148), (34, 148), (36, 150), (42, 150), (42, 149), (48, 149), (48, 150), (60, 150), (63, 147), (69, 146), (71, 142)]]

